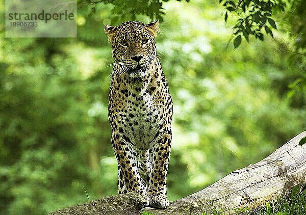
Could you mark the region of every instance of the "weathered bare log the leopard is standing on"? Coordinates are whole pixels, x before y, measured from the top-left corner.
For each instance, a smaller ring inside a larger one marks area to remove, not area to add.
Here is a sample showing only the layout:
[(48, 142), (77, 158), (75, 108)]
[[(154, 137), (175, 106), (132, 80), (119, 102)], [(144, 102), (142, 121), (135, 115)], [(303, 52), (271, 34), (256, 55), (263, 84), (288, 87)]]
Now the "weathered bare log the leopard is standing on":
[[(305, 188), (306, 144), (299, 145), (305, 137), (306, 131), (303, 131), (257, 164), (236, 170), (197, 193), (173, 201), (167, 209), (145, 207), (140, 212), (190, 215), (211, 212), (215, 207), (230, 213), (238, 207), (254, 209), (282, 194), (287, 195), (296, 184)], [(139, 198), (135, 194), (104, 197), (49, 214), (138, 215)]]

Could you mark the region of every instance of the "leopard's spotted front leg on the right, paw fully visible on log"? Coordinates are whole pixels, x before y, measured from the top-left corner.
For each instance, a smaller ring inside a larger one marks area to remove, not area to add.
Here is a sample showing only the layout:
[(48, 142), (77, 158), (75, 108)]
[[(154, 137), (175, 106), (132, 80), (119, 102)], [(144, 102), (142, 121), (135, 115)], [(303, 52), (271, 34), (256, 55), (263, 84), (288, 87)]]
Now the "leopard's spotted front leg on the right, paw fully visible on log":
[[(169, 128), (170, 129), (170, 128)], [(166, 177), (168, 172), (169, 157), (171, 149), (171, 131), (161, 136), (156, 144), (152, 146), (152, 169), (147, 195), (149, 205), (155, 208), (167, 208), (169, 200), (167, 198)]]

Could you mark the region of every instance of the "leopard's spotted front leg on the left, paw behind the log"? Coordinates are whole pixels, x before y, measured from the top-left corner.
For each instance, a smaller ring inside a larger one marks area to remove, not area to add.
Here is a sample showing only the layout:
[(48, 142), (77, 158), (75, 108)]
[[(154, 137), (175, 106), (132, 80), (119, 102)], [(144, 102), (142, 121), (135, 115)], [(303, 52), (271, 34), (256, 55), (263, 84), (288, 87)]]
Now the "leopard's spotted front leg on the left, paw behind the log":
[[(119, 166), (119, 193), (135, 192), (146, 196), (145, 187), (137, 169), (137, 154), (130, 141), (122, 133), (113, 133), (112, 145)], [(121, 182), (121, 184), (120, 184)], [(120, 186), (122, 187), (120, 189)], [(146, 198), (147, 199), (147, 198)], [(148, 202), (144, 202), (147, 205)]]

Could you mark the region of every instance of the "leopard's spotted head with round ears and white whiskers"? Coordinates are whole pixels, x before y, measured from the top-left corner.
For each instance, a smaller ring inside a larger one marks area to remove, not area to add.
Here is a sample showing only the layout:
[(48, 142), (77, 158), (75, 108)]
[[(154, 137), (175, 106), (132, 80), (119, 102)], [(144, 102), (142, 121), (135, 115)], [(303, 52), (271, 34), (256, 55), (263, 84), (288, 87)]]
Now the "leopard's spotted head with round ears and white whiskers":
[(132, 78), (146, 75), (148, 64), (156, 58), (158, 24), (158, 20), (149, 24), (127, 21), (118, 26), (104, 27), (112, 44), (113, 75), (125, 72)]

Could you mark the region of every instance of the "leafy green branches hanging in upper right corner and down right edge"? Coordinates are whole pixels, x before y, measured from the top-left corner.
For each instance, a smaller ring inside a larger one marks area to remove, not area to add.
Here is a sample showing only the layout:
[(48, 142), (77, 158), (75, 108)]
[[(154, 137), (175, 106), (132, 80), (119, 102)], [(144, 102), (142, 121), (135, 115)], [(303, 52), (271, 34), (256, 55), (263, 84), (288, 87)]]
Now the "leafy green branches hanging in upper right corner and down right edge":
[[(290, 83), (290, 91), (288, 96), (300, 97), (301, 92), (306, 92), (306, 68), (304, 67), (306, 62), (306, 19), (304, 14), (306, 13), (306, 1), (305, 0), (291, 0), (285, 2), (283, 0), (219, 0), (219, 3), (225, 9), (224, 20), (227, 22), (228, 16), (234, 14), (237, 17), (236, 24), (233, 26), (233, 41), (234, 48), (237, 48), (241, 44), (242, 36), (247, 42), (249, 37), (261, 41), (264, 40), (264, 32), (266, 35), (273, 37), (272, 29), (277, 30), (275, 18), (279, 12), (282, 15), (278, 15), (280, 20), (282, 17), (285, 20), (281, 26), (285, 32), (290, 32), (295, 46), (294, 56), (292, 57), (295, 64), (303, 65), (301, 75), (295, 79), (293, 83)], [(286, 13), (285, 13), (286, 12)], [(290, 45), (285, 45), (290, 46)], [(287, 48), (290, 50), (290, 48)], [(300, 97), (302, 101), (305, 100), (304, 96)]]

